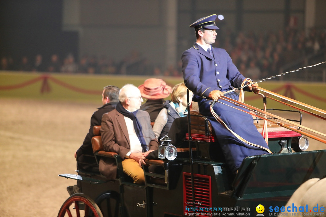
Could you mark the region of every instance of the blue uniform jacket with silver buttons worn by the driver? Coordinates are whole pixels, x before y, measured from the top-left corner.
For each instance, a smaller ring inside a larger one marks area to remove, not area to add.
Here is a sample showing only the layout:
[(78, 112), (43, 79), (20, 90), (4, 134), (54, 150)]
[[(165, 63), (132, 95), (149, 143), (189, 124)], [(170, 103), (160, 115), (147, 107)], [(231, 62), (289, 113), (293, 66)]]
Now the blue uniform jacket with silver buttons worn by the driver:
[(194, 99), (208, 98), (212, 90), (238, 88), (245, 77), (240, 74), (225, 49), (212, 47), (214, 58), (197, 43), (182, 54), (182, 71)]

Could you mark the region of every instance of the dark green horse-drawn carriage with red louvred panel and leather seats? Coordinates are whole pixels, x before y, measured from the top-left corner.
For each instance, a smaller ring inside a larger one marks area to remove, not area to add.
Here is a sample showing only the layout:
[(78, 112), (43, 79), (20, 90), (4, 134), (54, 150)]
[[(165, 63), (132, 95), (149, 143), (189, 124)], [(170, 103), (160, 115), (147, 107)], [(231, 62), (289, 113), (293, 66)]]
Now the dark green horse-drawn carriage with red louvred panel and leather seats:
[[(237, 173), (232, 173), (210, 122), (191, 111), (184, 124), (189, 146), (175, 147), (165, 137), (159, 145), (159, 159), (147, 159), (143, 165), (145, 185), (133, 183), (123, 173), (119, 155), (103, 151), (100, 126), (94, 127), (94, 157), (97, 162), (101, 157), (114, 158), (117, 177), (107, 180), (97, 171), (81, 170), (78, 175), (60, 174), (81, 182), (82, 193), (67, 198), (58, 217), (277, 215), (300, 184), (326, 174), (326, 150), (306, 151), (310, 134), (298, 127), (301, 111), (272, 109), (263, 115), (257, 115), (259, 109), (252, 111), (257, 129), (268, 136), (272, 155), (246, 157)], [(286, 119), (292, 124), (284, 124), (279, 116), (267, 117), (272, 111), (293, 113), (297, 118)], [(274, 122), (265, 124), (262, 119)], [(257, 212), (257, 206), (265, 210)]]

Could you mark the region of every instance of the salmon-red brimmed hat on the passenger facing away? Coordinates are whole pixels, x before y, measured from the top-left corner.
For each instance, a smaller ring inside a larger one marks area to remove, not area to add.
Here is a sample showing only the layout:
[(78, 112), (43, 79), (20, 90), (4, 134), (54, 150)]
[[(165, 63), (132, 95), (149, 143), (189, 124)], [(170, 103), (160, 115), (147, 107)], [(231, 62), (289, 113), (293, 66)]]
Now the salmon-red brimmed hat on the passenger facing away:
[(172, 88), (158, 78), (149, 78), (138, 88), (141, 91), (141, 96), (149, 100), (164, 99), (172, 92)]

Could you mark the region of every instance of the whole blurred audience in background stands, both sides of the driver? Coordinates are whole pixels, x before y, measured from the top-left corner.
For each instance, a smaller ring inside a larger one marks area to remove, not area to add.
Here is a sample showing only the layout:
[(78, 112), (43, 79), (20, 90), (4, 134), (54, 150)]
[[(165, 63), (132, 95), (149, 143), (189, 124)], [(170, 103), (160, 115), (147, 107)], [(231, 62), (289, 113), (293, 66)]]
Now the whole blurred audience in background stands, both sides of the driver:
[[(218, 32), (217, 38), (214, 47), (226, 49), (239, 71), (253, 80), (277, 75), (280, 68), (287, 64), (300, 65), (309, 55), (320, 52), (325, 55), (326, 49), (325, 29), (311, 29), (308, 33), (291, 28), (259, 33), (235, 33), (227, 30)], [(140, 52), (130, 51), (130, 54), (120, 61), (96, 55), (83, 55), (79, 60), (72, 54), (67, 54), (63, 59), (57, 54), (47, 58), (42, 54), (33, 58), (22, 56), (21, 60), (3, 56), (0, 70), (182, 76), (181, 67), (181, 61), (178, 61), (177, 66), (162, 69), (148, 61)]]

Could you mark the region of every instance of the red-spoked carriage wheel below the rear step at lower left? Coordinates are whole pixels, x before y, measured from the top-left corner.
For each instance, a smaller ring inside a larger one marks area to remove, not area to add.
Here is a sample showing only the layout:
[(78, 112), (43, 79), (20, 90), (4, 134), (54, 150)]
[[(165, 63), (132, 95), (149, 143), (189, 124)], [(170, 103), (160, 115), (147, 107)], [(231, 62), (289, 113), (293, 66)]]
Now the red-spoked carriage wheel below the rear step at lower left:
[(87, 195), (74, 194), (62, 204), (58, 217), (103, 217), (97, 204)]

